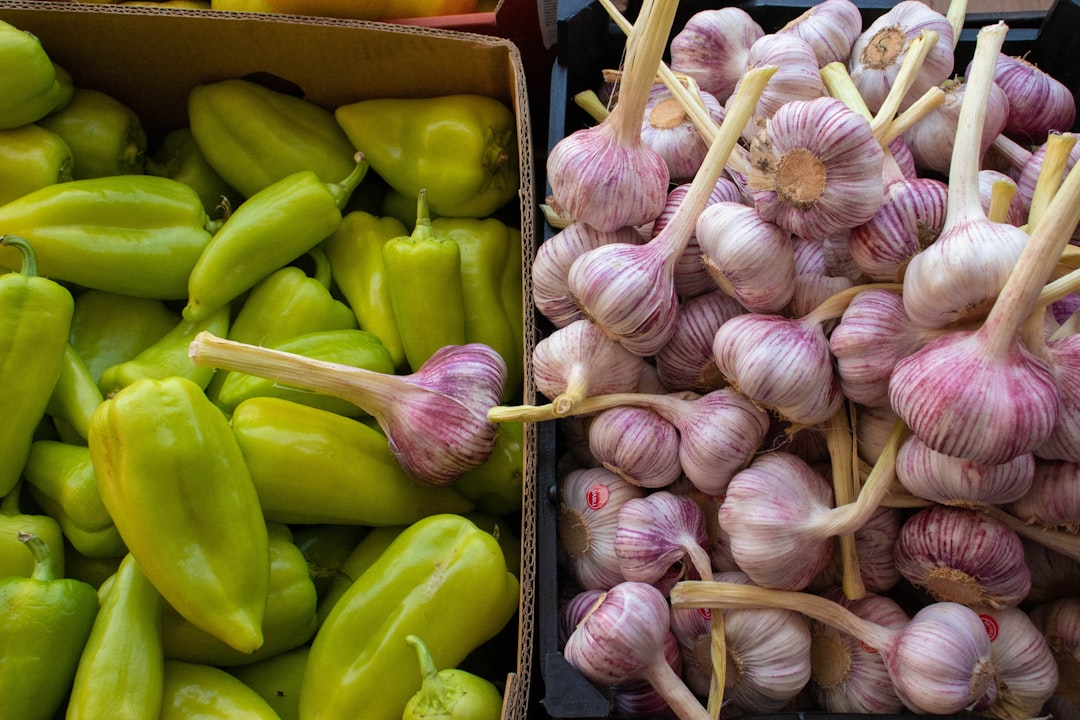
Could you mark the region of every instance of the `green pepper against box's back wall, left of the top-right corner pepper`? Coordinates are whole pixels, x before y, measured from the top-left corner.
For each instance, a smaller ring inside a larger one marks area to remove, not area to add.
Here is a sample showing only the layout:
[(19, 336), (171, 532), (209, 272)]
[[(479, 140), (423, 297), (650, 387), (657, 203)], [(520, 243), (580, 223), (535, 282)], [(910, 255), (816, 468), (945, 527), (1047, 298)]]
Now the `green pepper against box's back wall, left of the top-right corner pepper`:
[(188, 120), (206, 161), (245, 198), (300, 171), (334, 182), (353, 166), (355, 150), (328, 110), (248, 80), (197, 85)]

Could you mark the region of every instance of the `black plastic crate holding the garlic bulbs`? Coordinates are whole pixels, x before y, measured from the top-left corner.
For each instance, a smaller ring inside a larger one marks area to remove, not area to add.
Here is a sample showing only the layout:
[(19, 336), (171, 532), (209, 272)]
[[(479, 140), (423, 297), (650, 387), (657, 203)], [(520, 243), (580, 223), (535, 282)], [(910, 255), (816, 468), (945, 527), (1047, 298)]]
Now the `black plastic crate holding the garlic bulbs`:
[[(673, 32), (686, 25), (694, 13), (715, 8), (734, 5), (742, 8), (757, 21), (766, 32), (774, 32), (789, 21), (816, 4), (811, 0), (680, 0), (673, 23)], [(895, 4), (894, 0), (855, 0), (863, 13), (864, 27)], [(633, 19), (640, 9), (640, 0), (630, 0), (625, 15)], [(1045, 12), (969, 13), (956, 49), (958, 72), (967, 66), (974, 53), (975, 36), (980, 27), (997, 21), (1009, 26), (1002, 52), (1025, 55), (1028, 60), (1062, 81), (1072, 91), (1080, 105), (1080, 2), (1055, 0)], [(548, 114), (548, 142), (550, 151), (558, 140), (573, 131), (595, 124), (579, 108), (573, 96), (582, 91), (598, 90), (604, 69), (618, 68), (625, 50), (625, 36), (611, 22), (596, 0), (562, 0), (557, 22), (557, 56), (552, 67), (551, 103)], [(665, 60), (670, 59), (665, 55)], [(1080, 120), (1074, 125), (1080, 128)], [(540, 153), (538, 153), (539, 155)], [(543, 172), (544, 158), (538, 160), (538, 171)], [(550, 195), (551, 187), (544, 190)], [(544, 225), (540, 235), (550, 237), (556, 229)], [(541, 317), (540, 331), (550, 331)], [(559, 607), (559, 576), (556, 556), (558, 524), (557, 464), (562, 454), (556, 421), (541, 423), (538, 430), (538, 517), (537, 517), (537, 658), (538, 677), (534, 694), (550, 718), (600, 719), (608, 717), (611, 698), (600, 687), (585, 679), (563, 657), (558, 643), (557, 612)], [(825, 719), (825, 712), (789, 712), (751, 716), (756, 720), (800, 720), (804, 717)], [(893, 716), (864, 716), (890, 720)], [(895, 716), (907, 717), (907, 716)]]

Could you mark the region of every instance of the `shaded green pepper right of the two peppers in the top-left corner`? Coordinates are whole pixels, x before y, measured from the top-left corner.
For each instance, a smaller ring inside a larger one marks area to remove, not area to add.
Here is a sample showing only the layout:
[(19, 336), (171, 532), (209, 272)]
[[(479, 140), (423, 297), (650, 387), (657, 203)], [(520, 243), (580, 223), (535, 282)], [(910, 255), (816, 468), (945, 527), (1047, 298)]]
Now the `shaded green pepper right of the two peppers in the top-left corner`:
[(71, 176), (77, 180), (143, 173), (147, 142), (143, 122), (111, 95), (76, 87), (66, 106), (38, 124), (71, 148)]

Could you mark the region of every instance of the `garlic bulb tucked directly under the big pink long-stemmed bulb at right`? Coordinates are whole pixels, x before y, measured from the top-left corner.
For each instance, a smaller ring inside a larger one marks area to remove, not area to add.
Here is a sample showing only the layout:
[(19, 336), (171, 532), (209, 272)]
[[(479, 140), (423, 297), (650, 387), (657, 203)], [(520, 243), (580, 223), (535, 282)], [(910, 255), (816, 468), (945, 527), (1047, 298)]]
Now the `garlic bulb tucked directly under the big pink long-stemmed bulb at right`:
[(983, 507), (1013, 502), (1031, 488), (1036, 461), (1030, 452), (984, 464), (947, 456), (915, 435), (896, 453), (896, 479), (916, 498), (942, 505)]

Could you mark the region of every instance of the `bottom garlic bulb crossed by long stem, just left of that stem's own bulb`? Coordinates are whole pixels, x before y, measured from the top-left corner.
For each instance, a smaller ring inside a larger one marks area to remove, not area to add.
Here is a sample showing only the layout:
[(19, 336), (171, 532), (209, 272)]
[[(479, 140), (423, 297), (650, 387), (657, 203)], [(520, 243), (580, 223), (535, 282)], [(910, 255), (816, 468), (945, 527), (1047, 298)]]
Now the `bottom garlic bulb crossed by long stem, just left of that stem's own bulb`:
[[(910, 620), (900, 604), (885, 595), (868, 593), (849, 600), (839, 588), (822, 594), (863, 620), (900, 629)], [(832, 625), (810, 621), (810, 689), (829, 712), (883, 715), (901, 712), (885, 660), (874, 648)]]

